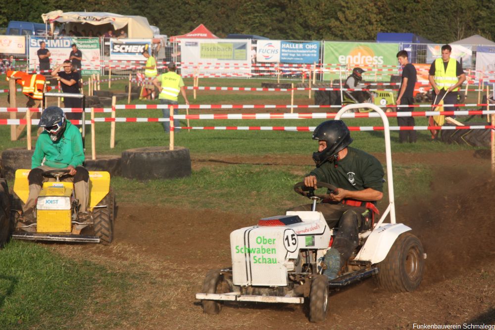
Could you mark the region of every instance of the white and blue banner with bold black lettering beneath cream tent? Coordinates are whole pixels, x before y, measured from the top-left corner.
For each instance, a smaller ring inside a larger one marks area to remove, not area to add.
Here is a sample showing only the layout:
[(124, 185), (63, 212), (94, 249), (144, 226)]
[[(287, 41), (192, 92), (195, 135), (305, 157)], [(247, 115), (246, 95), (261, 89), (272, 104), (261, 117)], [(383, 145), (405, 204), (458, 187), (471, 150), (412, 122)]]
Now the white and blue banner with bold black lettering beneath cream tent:
[(110, 60), (145, 61), (144, 50), (151, 54), (151, 39), (110, 39)]

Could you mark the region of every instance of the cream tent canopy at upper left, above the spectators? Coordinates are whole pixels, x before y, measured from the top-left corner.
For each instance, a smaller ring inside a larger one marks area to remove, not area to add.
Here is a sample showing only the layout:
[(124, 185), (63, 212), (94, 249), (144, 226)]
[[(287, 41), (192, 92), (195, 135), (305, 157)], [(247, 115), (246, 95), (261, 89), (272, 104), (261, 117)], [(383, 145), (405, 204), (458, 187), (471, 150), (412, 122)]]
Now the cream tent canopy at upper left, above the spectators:
[(143, 16), (124, 16), (109, 12), (86, 12), (54, 10), (42, 14), (43, 22), (49, 23), (53, 30), (53, 23), (81, 23), (91, 25), (112, 24), (114, 30), (122, 29), (127, 25), (129, 38), (153, 38), (148, 19)]

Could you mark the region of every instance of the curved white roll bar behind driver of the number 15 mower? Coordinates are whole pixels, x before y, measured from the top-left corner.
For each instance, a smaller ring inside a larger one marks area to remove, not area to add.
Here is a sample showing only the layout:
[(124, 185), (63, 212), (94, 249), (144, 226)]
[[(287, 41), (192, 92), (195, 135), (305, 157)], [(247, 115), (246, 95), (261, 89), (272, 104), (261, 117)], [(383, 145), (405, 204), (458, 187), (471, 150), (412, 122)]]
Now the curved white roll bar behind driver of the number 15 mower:
[(385, 212), (383, 213), (382, 217), (380, 220), (377, 222), (376, 227), (377, 228), (384, 220), (385, 217), (387, 217), (387, 214), (390, 212), (390, 223), (395, 224), (396, 223), (396, 206), (395, 206), (395, 201), (394, 201), (394, 179), (392, 175), (392, 150), (390, 147), (390, 129), (389, 129), (389, 119), (385, 115), (385, 112), (383, 112), (382, 109), (380, 109), (378, 106), (375, 104), (371, 103), (357, 103), (357, 104), (348, 104), (342, 109), (337, 112), (337, 115), (335, 116), (335, 119), (338, 120), (341, 118), (342, 114), (345, 113), (347, 110), (350, 109), (359, 109), (359, 108), (370, 108), (378, 112), (380, 117), (382, 118), (383, 121), (383, 127), (384, 127), (384, 132), (385, 132), (385, 156), (387, 159), (387, 185), (389, 188), (389, 205)]

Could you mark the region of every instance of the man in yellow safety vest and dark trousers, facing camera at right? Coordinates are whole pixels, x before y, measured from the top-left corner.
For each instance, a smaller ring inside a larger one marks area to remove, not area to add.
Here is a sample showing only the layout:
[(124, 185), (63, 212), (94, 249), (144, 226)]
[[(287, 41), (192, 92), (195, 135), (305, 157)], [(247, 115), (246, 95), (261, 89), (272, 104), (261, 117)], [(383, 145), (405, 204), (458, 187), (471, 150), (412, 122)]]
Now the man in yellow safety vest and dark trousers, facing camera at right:
[[(459, 86), (466, 80), (466, 75), (462, 70), (459, 61), (450, 58), (452, 47), (449, 45), (442, 46), (442, 57), (437, 58), (430, 66), (428, 80), (435, 90), (436, 100), (438, 103), (444, 97), (445, 104), (457, 103)], [(454, 111), (455, 107), (445, 107), (446, 111)]]

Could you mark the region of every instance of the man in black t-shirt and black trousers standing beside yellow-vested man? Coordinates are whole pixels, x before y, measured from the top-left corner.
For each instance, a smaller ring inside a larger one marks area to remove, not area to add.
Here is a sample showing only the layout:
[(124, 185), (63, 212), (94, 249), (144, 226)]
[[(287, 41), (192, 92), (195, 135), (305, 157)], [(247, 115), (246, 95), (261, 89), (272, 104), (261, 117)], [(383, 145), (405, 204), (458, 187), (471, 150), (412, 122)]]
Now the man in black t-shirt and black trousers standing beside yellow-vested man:
[[(417, 73), (414, 65), (409, 63), (407, 51), (400, 50), (397, 53), (397, 59), (402, 68), (402, 80), (400, 82), (400, 91), (397, 96), (397, 105), (403, 105), (404, 107), (397, 107), (399, 111), (413, 111), (411, 106), (405, 107), (405, 105), (412, 105), (414, 98), (412, 96), (414, 92), (414, 86), (416, 86)], [(414, 126), (414, 117), (397, 117), (397, 125), (399, 126)], [(416, 131), (399, 131), (399, 142), (414, 143), (418, 140)]]

